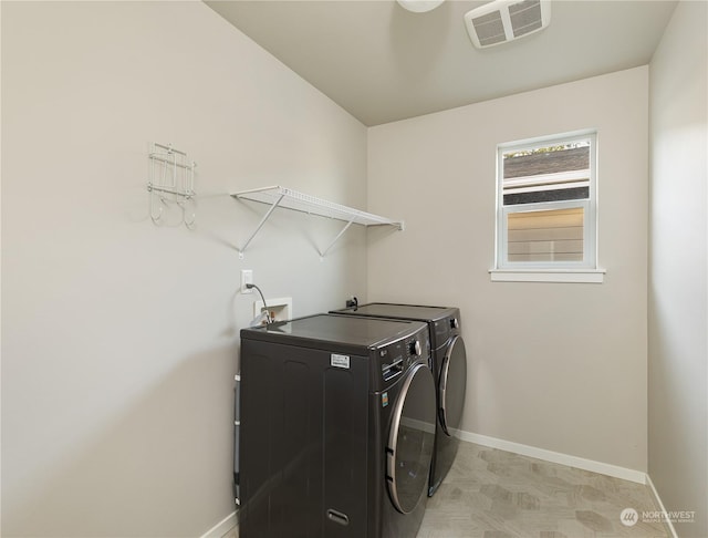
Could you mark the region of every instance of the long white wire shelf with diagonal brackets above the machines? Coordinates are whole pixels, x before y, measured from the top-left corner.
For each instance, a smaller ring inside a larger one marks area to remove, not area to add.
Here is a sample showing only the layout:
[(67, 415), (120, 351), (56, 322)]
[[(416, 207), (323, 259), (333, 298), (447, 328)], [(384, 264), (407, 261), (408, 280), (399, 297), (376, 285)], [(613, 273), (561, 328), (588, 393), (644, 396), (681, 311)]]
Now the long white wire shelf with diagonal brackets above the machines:
[(334, 239), (332, 239), (330, 245), (320, 252), (320, 258), (324, 258), (324, 256), (330, 251), (334, 244), (353, 224), (362, 226), (393, 226), (399, 230), (404, 229), (404, 223), (402, 220), (392, 220), (386, 217), (361, 211), (352, 207), (342, 206), (333, 201), (299, 193), (298, 190), (281, 187), (279, 185), (272, 187), (256, 188), (252, 190), (243, 190), (241, 193), (232, 194), (231, 196), (236, 199), (260, 201), (261, 204), (270, 205), (270, 208), (268, 209), (261, 221), (258, 224), (251, 236), (248, 238), (243, 247), (239, 249), (240, 258), (243, 258), (243, 252), (277, 207), (306, 213), (309, 215), (333, 218), (346, 223), (344, 228), (337, 234)]

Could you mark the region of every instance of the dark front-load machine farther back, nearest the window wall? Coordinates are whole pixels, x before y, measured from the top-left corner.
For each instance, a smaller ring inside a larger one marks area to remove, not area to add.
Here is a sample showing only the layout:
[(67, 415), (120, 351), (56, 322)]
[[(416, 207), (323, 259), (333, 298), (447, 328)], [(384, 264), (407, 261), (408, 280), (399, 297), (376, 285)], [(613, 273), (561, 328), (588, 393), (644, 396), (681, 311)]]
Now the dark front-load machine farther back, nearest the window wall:
[(417, 320), (428, 324), (433, 348), (430, 369), (435, 376), (437, 394), (435, 452), (428, 488), (428, 495), (433, 496), (457, 455), (459, 438), (456, 432), (460, 427), (465, 408), (467, 352), (460, 332), (459, 309), (372, 302), (336, 312), (356, 317)]

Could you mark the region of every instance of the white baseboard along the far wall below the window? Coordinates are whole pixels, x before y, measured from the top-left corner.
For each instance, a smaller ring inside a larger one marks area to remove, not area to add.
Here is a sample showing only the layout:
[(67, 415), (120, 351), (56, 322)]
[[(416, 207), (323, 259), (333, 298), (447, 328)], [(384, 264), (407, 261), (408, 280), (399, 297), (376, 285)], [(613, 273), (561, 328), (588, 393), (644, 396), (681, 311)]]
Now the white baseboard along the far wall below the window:
[(643, 473), (641, 470), (628, 469), (626, 467), (595, 462), (593, 459), (585, 459), (584, 457), (571, 456), (570, 454), (562, 454), (560, 452), (546, 451), (545, 448), (523, 445), (521, 443), (513, 443), (511, 441), (489, 437), (487, 435), (464, 432), (461, 430), (458, 431), (458, 437), (462, 441), (488, 446), (490, 448), (499, 448), (501, 451), (513, 452), (516, 454), (521, 454), (522, 456), (535, 457), (545, 462), (568, 465), (569, 467), (576, 467), (579, 469), (591, 470), (593, 473), (600, 473), (601, 475), (614, 476), (615, 478), (622, 478), (624, 480), (635, 482), (637, 484), (646, 484), (647, 475), (646, 473)]

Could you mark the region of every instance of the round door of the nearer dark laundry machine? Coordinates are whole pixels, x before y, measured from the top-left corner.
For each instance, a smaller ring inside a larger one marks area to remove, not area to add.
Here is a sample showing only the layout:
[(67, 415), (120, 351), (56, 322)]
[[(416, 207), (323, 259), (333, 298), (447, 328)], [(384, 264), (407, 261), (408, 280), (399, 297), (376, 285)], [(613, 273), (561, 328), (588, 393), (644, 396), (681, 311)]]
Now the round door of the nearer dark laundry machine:
[(435, 442), (435, 382), (425, 364), (403, 382), (386, 449), (386, 478), (396, 509), (409, 514), (428, 489)]

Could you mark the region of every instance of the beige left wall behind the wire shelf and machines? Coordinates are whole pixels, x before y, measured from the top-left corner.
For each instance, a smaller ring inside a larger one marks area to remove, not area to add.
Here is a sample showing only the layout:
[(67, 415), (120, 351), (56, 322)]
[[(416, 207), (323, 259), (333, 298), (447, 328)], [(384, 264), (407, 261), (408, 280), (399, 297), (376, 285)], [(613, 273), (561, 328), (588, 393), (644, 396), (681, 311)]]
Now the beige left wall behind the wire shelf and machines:
[[(198, 163), (197, 229), (153, 225), (150, 141)], [(201, 2), (2, 2), (2, 535), (199, 536), (233, 511), (232, 387), (254, 296), (365, 292), (366, 130)]]

